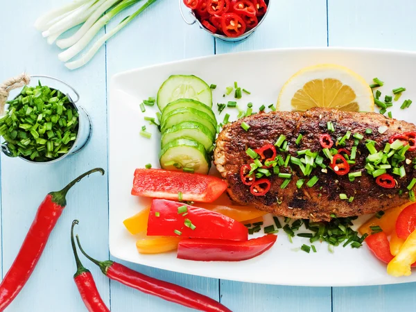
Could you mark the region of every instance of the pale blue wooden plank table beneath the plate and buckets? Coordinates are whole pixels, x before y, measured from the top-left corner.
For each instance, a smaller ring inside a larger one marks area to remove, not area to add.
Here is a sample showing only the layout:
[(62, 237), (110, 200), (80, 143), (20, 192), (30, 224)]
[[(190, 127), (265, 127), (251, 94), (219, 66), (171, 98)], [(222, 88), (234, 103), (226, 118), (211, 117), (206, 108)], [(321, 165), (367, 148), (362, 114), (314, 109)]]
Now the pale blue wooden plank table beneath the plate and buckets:
[[(270, 13), (259, 31), (239, 44), (224, 44), (196, 26), (187, 26), (180, 17), (176, 0), (159, 0), (107, 42), (86, 67), (69, 71), (58, 60), (58, 47), (49, 46), (33, 27), (35, 19), (46, 10), (68, 1), (1, 0), (0, 80), (22, 71), (65, 80), (80, 92), (80, 103), (91, 114), (94, 126), (87, 147), (57, 164), (32, 165), (2, 155), (2, 276), (15, 259), (45, 194), (60, 189), (89, 168), (107, 168), (107, 84), (114, 73), (184, 58), (254, 49), (356, 46), (416, 50), (416, 1), (413, 0), (271, 0)], [(116, 26), (125, 15), (110, 22), (106, 29)], [(107, 175), (92, 175), (70, 191), (68, 206), (51, 234), (42, 259), (8, 311), (85, 311), (72, 280), (76, 266), (69, 229), (71, 221), (78, 218), (78, 233), (83, 237), (85, 249), (97, 259), (110, 257), (107, 200)], [(85, 259), (83, 262), (91, 268), (98, 289), (112, 311), (187, 310), (110, 282), (98, 268)], [(416, 310), (416, 284), (349, 288), (267, 286), (125, 264), (209, 295), (232, 311)]]

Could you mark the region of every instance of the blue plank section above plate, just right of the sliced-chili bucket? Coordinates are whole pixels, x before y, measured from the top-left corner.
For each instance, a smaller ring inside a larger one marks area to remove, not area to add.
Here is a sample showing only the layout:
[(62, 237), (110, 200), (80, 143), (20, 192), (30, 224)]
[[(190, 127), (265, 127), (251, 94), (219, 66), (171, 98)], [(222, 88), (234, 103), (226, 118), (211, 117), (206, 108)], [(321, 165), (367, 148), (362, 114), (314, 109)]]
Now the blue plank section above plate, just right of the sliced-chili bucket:
[(271, 1), (263, 24), (243, 42), (216, 40), (216, 53), (327, 45), (326, 0)]

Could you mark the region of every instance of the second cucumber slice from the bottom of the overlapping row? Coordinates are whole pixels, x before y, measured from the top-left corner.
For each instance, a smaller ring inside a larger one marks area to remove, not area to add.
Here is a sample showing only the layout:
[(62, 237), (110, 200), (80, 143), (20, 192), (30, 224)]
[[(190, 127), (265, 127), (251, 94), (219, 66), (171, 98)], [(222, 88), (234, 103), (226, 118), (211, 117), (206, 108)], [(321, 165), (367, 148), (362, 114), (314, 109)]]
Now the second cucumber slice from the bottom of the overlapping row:
[(166, 129), (162, 135), (162, 148), (169, 142), (180, 138), (197, 141), (205, 147), (205, 150), (211, 148), (215, 139), (211, 131), (209, 131), (205, 125), (202, 125), (202, 123), (184, 121), (183, 123), (173, 125), (173, 127)]

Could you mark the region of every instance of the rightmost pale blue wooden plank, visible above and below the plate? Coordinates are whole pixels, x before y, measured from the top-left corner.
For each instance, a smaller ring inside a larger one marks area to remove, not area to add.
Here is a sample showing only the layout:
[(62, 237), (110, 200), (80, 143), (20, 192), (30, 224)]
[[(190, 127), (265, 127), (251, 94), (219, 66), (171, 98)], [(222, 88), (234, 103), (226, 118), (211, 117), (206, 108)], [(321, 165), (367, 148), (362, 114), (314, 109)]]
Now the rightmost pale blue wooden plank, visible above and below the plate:
[[(329, 45), (414, 50), (415, 13), (410, 0), (329, 0)], [(333, 311), (413, 311), (415, 289), (415, 284), (333, 288)]]

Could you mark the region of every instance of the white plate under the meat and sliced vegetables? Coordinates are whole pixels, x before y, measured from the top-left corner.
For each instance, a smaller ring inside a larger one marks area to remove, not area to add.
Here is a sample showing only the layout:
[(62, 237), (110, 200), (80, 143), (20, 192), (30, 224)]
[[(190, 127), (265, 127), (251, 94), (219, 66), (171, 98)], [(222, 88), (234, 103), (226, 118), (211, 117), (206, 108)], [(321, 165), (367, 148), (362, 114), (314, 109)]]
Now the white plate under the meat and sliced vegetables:
[[(208, 84), (216, 84), (216, 103), (233, 101), (234, 97), (223, 97), (225, 87), (239, 83), (251, 95), (243, 93), (239, 105), (245, 110), (247, 103), (254, 103), (254, 110), (262, 104), (275, 104), (281, 87), (293, 73), (306, 66), (322, 63), (344, 65), (361, 74), (368, 83), (378, 77), (385, 81), (381, 88), (383, 96), (391, 94), (395, 87), (407, 87), (400, 101), (392, 107), (393, 117), (415, 122), (416, 104), (400, 110), (404, 99), (416, 101), (416, 53), (398, 51), (376, 51), (363, 49), (279, 49), (250, 51), (206, 58), (161, 64), (144, 69), (134, 69), (116, 74), (110, 84), (109, 113), (109, 183), (110, 183), (110, 252), (114, 257), (164, 270), (191, 275), (248, 281), (263, 284), (296, 286), (358, 286), (395, 284), (416, 281), (410, 277), (394, 278), (387, 275), (385, 265), (377, 261), (365, 246), (352, 249), (349, 246), (335, 248), (330, 253), (326, 243), (315, 243), (318, 252), (307, 254), (294, 251), (308, 239), (295, 238), (288, 241), (280, 231), (277, 243), (260, 257), (237, 263), (196, 262), (176, 259), (176, 253), (145, 255), (135, 247), (138, 236), (132, 236), (123, 225), (123, 220), (149, 205), (148, 199), (131, 196), (132, 177), (135, 168), (145, 164), (159, 166), (160, 136), (155, 126), (148, 125), (144, 116), (155, 117), (157, 107), (146, 107), (142, 113), (139, 104), (149, 96), (156, 96), (159, 86), (172, 74), (193, 74)], [(236, 118), (236, 109), (225, 112)], [(151, 139), (139, 136), (141, 126), (146, 125), (153, 133)], [(359, 218), (357, 225), (368, 216)], [(272, 224), (266, 218), (265, 225)], [(261, 231), (263, 232), (263, 231)], [(261, 234), (259, 234), (260, 236)]]

